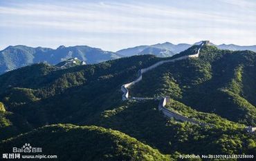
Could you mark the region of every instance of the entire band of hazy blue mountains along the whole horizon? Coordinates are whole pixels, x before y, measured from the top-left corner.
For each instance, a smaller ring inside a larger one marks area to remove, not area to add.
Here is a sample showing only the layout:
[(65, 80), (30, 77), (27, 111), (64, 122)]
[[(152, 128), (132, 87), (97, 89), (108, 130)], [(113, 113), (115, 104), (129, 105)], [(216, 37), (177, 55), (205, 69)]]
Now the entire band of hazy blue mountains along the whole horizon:
[[(194, 43), (194, 44), (199, 44)], [(214, 45), (214, 44), (211, 44)], [(19, 67), (31, 65), (33, 63), (49, 63), (56, 65), (69, 58), (78, 58), (86, 64), (100, 63), (109, 61), (123, 56), (152, 54), (158, 57), (173, 56), (179, 52), (187, 50), (192, 45), (188, 43), (157, 43), (154, 45), (140, 45), (119, 50), (118, 52), (107, 52), (95, 47), (79, 45), (73, 47), (60, 46), (56, 50), (47, 47), (28, 47), (25, 45), (9, 46), (0, 51), (0, 74), (8, 72)], [(239, 46), (239, 45), (214, 45), (221, 50), (251, 50), (256, 52), (256, 45)]]

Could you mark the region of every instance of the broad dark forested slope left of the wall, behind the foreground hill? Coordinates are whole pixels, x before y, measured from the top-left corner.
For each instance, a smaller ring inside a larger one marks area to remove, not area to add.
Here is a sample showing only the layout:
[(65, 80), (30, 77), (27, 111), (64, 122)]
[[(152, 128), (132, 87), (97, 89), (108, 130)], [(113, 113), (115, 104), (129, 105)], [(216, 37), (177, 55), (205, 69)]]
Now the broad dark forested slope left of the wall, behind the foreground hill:
[[(155, 56), (133, 56), (68, 69), (44, 63), (31, 65), (0, 76), (0, 98), (11, 116), (20, 116), (29, 127), (86, 122), (120, 103), (122, 83), (131, 81), (138, 69), (156, 61)], [(10, 122), (15, 125), (16, 121)], [(8, 134), (10, 137), (17, 133)]]

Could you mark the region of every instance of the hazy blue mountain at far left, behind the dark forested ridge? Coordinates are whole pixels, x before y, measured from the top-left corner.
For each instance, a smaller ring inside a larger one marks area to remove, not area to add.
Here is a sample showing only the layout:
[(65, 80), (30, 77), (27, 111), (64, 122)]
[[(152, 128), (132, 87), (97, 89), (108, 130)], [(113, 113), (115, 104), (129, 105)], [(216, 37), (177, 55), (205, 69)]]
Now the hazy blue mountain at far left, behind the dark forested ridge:
[(46, 62), (55, 65), (73, 57), (92, 64), (120, 58), (120, 55), (89, 46), (60, 46), (56, 50), (44, 47), (27, 47), (24, 45), (9, 46), (5, 50), (0, 51), (0, 74), (33, 63)]

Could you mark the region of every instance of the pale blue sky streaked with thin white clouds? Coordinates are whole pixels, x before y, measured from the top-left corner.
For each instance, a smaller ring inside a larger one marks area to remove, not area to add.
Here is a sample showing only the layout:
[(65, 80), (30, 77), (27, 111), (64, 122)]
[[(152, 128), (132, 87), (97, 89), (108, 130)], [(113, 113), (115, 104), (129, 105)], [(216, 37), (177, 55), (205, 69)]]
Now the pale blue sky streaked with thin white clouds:
[(0, 49), (154, 43), (256, 45), (256, 0), (0, 0)]

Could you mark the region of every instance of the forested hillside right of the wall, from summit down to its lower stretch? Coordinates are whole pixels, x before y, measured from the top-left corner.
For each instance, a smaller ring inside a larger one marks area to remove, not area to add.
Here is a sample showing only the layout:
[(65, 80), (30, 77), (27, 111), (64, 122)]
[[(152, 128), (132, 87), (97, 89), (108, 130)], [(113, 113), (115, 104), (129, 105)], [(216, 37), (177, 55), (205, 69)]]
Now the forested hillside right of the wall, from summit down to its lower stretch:
[(198, 111), (255, 126), (255, 60), (250, 51), (207, 45), (199, 58), (167, 63), (143, 75), (131, 96), (170, 96)]

